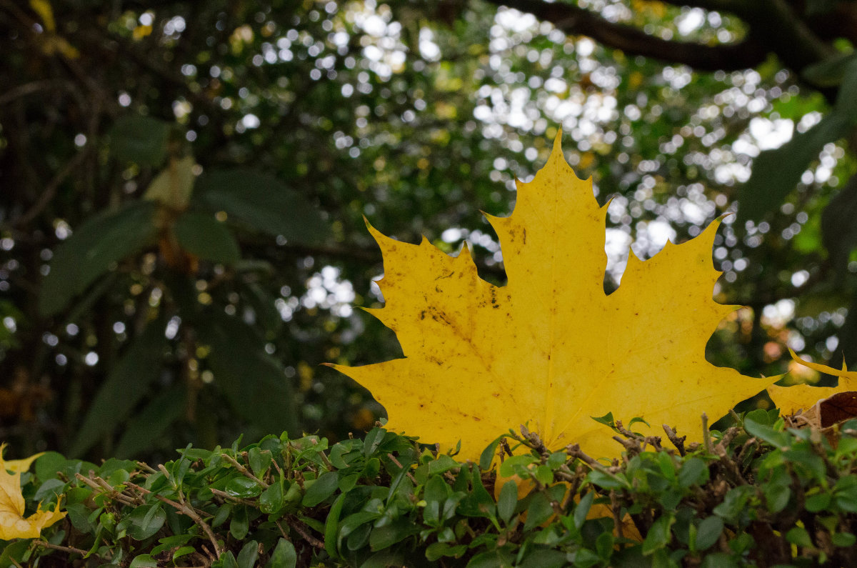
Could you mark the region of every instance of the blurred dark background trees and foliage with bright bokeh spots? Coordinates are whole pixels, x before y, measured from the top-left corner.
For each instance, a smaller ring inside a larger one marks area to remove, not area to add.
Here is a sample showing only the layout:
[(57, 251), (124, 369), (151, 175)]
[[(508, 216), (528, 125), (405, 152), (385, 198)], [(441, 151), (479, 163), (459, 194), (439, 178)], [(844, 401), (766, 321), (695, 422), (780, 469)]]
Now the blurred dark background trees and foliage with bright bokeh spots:
[(363, 217), (501, 282), (479, 212), (558, 127), (612, 198), (608, 291), (737, 211), (709, 359), (857, 365), (855, 41), (852, 0), (0, 0), (0, 438), (369, 428), (319, 366), (400, 354), (352, 307), (382, 301)]

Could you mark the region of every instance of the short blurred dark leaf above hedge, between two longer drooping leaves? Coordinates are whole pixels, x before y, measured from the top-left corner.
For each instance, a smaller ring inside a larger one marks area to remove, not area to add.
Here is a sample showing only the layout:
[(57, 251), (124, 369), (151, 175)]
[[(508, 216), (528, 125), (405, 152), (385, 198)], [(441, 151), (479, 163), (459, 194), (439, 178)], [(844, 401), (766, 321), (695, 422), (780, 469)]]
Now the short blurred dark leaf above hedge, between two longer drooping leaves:
[(123, 426), (113, 454), (117, 457), (138, 456), (153, 447), (171, 426), (182, 418), (185, 410), (187, 387), (176, 384), (147, 403)]

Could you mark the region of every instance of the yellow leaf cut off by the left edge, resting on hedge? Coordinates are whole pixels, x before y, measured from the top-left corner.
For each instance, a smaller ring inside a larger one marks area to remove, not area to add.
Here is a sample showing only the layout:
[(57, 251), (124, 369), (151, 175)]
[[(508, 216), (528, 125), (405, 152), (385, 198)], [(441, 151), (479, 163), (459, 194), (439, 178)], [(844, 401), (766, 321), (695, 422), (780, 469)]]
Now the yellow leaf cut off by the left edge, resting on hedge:
[(54, 511), (45, 511), (39, 505), (39, 511), (24, 518), (25, 503), (24, 496), (21, 494), (21, 472), (26, 471), (33, 460), (41, 454), (6, 462), (3, 460), (5, 447), (6, 444), (0, 444), (0, 539), (10, 541), (39, 538), (41, 530), (65, 517), (65, 512), (59, 511), (59, 505)]

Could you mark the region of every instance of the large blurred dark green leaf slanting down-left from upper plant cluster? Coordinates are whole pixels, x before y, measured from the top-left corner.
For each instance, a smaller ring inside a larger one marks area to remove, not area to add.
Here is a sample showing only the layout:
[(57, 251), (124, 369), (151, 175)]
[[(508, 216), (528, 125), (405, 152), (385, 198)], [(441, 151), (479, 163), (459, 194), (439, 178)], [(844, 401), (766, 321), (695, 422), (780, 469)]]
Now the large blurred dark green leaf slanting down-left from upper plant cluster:
[(133, 202), (75, 227), (54, 252), (51, 271), (39, 289), (39, 313), (52, 316), (63, 311), (115, 263), (153, 245), (158, 232), (154, 214), (152, 203)]

